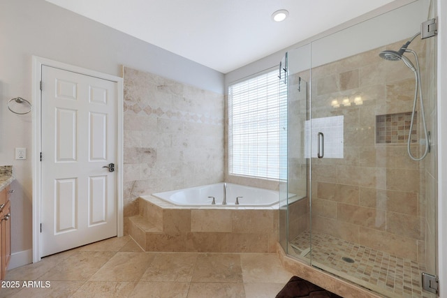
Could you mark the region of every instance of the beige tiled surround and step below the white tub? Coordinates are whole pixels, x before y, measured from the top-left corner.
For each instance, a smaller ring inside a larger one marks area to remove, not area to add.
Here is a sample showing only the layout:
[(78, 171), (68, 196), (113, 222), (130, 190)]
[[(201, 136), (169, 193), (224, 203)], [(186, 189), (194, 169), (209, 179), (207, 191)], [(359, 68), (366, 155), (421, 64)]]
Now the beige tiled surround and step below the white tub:
[(152, 195), (139, 198), (129, 235), (145, 251), (274, 253), (278, 207), (178, 207)]

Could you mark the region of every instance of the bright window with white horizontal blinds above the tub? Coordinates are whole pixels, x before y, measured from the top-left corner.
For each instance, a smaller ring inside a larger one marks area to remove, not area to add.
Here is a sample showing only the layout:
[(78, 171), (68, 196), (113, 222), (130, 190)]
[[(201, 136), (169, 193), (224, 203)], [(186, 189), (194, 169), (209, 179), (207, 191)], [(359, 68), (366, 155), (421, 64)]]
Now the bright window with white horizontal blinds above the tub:
[(228, 87), (230, 174), (279, 179), (285, 86), (273, 70)]

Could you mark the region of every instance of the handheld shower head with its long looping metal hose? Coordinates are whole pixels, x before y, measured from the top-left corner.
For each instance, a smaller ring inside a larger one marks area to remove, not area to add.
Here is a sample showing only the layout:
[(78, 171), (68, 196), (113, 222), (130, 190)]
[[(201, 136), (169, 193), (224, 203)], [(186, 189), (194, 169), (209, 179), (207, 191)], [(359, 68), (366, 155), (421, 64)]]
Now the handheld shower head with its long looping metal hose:
[[(409, 41), (407, 41), (402, 47), (400, 47), (399, 51), (393, 51), (393, 50), (384, 50), (380, 52), (379, 57), (386, 59), (388, 61), (399, 61), (402, 60), (404, 64), (413, 71), (415, 78), (416, 78), (416, 86), (414, 91), (414, 100), (413, 100), (413, 112), (411, 114), (411, 124), (410, 124), (410, 131), (408, 136), (408, 143), (407, 143), (407, 151), (411, 159), (413, 161), (422, 161), (425, 156), (427, 156), (428, 152), (430, 151), (430, 132), (427, 131), (427, 124), (425, 122), (425, 112), (424, 112), (424, 100), (422, 95), (422, 88), (420, 86), (420, 70), (419, 70), (419, 61), (418, 61), (418, 55), (413, 50), (409, 50), (407, 47), (409, 44), (416, 38), (418, 35), (420, 35), (420, 32), (416, 33)], [(411, 63), (410, 59), (404, 56), (405, 52), (409, 52), (413, 54), (414, 59), (416, 61), (416, 67)], [(419, 97), (420, 97), (420, 114), (422, 117), (423, 122), (423, 129), (425, 134), (425, 152), (422, 156), (419, 158), (416, 158), (411, 154), (411, 132), (413, 131), (413, 123), (414, 118), (416, 116), (416, 103), (418, 100), (418, 91), (419, 91)]]

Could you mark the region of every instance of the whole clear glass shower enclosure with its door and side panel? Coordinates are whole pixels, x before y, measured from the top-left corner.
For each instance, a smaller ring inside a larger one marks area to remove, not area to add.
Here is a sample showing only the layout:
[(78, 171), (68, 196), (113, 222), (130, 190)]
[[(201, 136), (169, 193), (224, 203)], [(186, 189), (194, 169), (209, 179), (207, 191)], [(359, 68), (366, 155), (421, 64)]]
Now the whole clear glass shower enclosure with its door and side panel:
[[(437, 275), (436, 37), (411, 40), (434, 5), (414, 1), (281, 61), (279, 243), (385, 297), (437, 297), (421, 282)], [(382, 59), (409, 40), (404, 58)]]

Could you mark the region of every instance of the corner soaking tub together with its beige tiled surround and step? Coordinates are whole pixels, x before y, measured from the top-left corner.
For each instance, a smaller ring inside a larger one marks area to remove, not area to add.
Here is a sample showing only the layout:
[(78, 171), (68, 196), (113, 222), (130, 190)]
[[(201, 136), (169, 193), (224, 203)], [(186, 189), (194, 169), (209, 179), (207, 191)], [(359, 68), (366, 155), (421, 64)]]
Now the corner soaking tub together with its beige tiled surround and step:
[(219, 183), (142, 195), (129, 234), (145, 251), (275, 253), (279, 191), (230, 183), (224, 189)]

